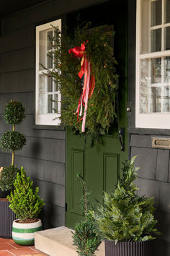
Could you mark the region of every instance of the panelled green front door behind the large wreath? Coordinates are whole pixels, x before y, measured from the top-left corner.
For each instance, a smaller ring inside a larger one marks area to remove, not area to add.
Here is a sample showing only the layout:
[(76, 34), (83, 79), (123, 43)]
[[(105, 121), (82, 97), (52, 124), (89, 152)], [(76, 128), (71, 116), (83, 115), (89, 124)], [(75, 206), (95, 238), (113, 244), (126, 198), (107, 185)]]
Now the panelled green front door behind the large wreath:
[[(115, 3), (114, 3), (115, 2)], [(76, 174), (83, 174), (92, 198), (102, 202), (102, 192), (115, 189), (117, 176), (121, 174), (122, 161), (128, 157), (127, 129), (127, 8), (126, 1), (108, 1), (97, 7), (99, 15), (95, 14), (95, 22), (113, 25), (115, 30), (114, 53), (118, 62), (117, 72), (120, 75), (118, 93), (118, 116), (117, 128), (103, 137), (103, 145), (94, 143), (90, 148), (89, 138), (86, 145), (84, 136), (73, 135), (70, 129), (66, 132), (66, 226), (74, 228), (76, 221), (82, 218), (79, 202), (82, 195), (79, 182), (76, 181)], [(93, 7), (95, 9), (95, 7)], [(89, 18), (88, 10), (84, 11)], [(84, 14), (85, 15), (85, 14)], [(86, 16), (86, 15), (85, 15)], [(90, 20), (90, 18), (89, 18)], [(109, 20), (109, 22), (108, 22)], [(125, 151), (121, 150), (119, 131), (125, 128), (125, 135), (122, 142), (125, 144)]]

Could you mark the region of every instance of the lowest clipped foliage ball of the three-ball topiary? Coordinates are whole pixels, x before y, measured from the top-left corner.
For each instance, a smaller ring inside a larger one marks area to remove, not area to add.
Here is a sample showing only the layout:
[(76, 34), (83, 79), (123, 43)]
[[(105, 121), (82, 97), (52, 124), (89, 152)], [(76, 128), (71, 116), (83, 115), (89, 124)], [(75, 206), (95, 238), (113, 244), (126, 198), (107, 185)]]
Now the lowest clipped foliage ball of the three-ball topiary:
[(3, 168), (0, 173), (0, 188), (2, 191), (14, 189), (14, 181), (18, 171), (20, 170), (16, 166), (7, 166)]

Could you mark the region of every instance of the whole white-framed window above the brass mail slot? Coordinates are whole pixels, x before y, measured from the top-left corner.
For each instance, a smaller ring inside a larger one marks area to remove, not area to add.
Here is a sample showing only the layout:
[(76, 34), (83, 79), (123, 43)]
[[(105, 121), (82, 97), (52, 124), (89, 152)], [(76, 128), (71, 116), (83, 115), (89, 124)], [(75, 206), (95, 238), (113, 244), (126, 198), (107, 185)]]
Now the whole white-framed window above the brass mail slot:
[(137, 0), (135, 126), (170, 129), (170, 0)]

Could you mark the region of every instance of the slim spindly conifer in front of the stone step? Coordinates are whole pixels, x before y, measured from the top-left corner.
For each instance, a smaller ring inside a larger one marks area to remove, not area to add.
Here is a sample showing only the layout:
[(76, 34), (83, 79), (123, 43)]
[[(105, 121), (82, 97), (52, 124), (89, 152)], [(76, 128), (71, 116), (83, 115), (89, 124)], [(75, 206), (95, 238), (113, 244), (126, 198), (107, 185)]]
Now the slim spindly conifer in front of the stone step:
[(94, 205), (90, 200), (91, 192), (88, 191), (81, 174), (78, 174), (78, 178), (83, 190), (81, 210), (85, 219), (76, 223), (75, 231), (73, 232), (73, 244), (76, 246), (78, 255), (92, 256), (101, 243), (101, 239), (96, 233), (96, 222), (91, 214), (91, 211), (94, 210)]

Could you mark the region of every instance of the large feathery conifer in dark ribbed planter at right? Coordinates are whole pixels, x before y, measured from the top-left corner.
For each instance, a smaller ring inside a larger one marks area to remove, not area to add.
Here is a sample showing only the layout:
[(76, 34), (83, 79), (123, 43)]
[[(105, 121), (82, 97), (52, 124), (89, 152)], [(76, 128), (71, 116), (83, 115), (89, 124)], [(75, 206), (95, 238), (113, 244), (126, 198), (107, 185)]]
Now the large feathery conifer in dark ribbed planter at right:
[(133, 183), (135, 157), (125, 161), (115, 192), (104, 192), (104, 203), (94, 216), (105, 239), (106, 256), (152, 256), (155, 228), (153, 197), (138, 196)]

